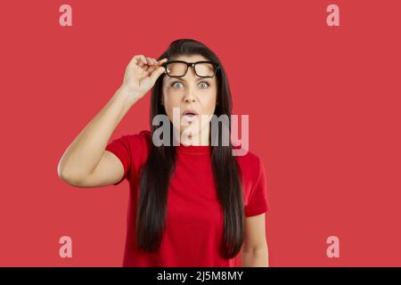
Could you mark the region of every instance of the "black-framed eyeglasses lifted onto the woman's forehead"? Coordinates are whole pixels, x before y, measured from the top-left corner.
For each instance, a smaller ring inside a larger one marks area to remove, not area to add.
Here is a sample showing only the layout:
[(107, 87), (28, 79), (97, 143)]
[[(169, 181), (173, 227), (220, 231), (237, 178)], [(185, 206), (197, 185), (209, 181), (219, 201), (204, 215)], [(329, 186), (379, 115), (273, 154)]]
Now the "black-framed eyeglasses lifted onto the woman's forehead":
[(220, 68), (218, 63), (213, 61), (167, 61), (162, 63), (161, 66), (166, 69), (169, 77), (184, 77), (189, 66), (192, 67), (198, 77), (214, 77), (217, 69)]

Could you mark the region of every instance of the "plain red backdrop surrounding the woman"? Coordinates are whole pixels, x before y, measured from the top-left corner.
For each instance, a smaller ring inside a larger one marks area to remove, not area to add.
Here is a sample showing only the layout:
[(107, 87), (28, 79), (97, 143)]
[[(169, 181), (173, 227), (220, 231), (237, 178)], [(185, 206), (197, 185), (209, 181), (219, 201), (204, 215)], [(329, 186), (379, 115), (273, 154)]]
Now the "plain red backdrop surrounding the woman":
[[(59, 25), (61, 4), (73, 26)], [(340, 6), (340, 27), (326, 7)], [(62, 183), (66, 147), (135, 54), (200, 40), (264, 161), (271, 266), (400, 266), (399, 1), (12, 1), (0, 6), (0, 265), (120, 266), (128, 184)], [(149, 94), (111, 138), (149, 128)], [(72, 238), (72, 258), (59, 239)], [(340, 258), (326, 256), (340, 238)]]

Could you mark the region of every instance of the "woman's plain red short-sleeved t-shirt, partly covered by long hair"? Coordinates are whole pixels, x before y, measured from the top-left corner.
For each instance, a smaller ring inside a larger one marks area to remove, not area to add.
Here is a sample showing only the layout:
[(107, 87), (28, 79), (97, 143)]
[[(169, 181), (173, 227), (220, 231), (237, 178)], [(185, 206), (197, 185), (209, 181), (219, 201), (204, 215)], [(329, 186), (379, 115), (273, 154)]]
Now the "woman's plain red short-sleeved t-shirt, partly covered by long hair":
[[(147, 253), (135, 247), (135, 213), (138, 171), (147, 159), (151, 132), (122, 135), (110, 142), (106, 150), (114, 153), (124, 166), (130, 199), (127, 213), (127, 240), (123, 266), (241, 266), (241, 251), (225, 259), (218, 254), (223, 239), (223, 212), (217, 199), (210, 146), (176, 146), (176, 171), (168, 188), (166, 231), (157, 252)], [(245, 216), (265, 213), (266, 172), (262, 161), (250, 151), (236, 156), (244, 183)]]

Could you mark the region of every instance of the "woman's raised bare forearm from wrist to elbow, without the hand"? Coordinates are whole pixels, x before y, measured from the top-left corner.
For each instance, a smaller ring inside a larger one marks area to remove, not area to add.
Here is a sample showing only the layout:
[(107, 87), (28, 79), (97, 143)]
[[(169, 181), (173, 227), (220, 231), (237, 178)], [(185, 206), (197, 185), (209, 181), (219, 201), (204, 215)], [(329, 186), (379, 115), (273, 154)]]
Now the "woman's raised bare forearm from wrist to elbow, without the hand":
[(102, 158), (111, 134), (133, 104), (135, 102), (130, 102), (118, 89), (64, 151), (57, 169), (59, 175), (78, 181), (92, 173)]

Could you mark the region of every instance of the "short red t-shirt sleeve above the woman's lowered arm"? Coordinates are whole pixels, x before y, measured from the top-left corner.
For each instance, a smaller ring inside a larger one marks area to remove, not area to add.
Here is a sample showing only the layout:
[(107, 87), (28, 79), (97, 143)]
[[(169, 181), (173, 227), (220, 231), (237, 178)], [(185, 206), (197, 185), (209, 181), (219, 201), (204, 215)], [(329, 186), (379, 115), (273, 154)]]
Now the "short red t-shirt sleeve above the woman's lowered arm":
[(266, 170), (262, 160), (258, 158), (258, 179), (250, 190), (250, 200), (245, 207), (245, 216), (257, 216), (265, 213), (269, 208)]

